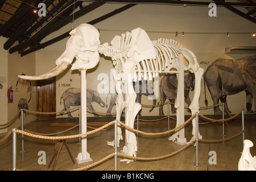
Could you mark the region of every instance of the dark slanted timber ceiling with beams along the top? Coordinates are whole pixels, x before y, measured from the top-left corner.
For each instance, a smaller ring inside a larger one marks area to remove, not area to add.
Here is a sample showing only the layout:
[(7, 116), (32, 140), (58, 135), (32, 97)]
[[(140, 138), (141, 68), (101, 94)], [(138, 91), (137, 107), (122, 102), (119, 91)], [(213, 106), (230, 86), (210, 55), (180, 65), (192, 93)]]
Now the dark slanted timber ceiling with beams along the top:
[[(101, 22), (102, 20), (136, 6), (138, 3), (208, 6), (211, 2), (216, 3), (217, 6), (226, 7), (226, 9), (242, 16), (245, 20), (256, 23), (256, 0), (238, 0), (238, 2), (233, 3), (223, 0), (209, 0), (208, 2), (193, 0), (97, 0), (86, 2), (89, 2), (89, 5), (83, 6), (83, 1), (81, 0), (1, 0), (0, 36), (7, 38), (3, 48), (9, 50), (10, 53), (19, 52), (21, 56), (45, 48), (59, 40), (67, 38), (69, 31), (52, 40), (43, 42), (42, 40), (46, 38), (46, 36), (109, 2), (125, 4), (120, 9), (85, 23), (95, 24)], [(46, 5), (46, 16), (38, 16), (37, 13), (35, 14), (33, 12), (35, 9), (40, 10), (40, 8), (38, 8), (39, 3)]]

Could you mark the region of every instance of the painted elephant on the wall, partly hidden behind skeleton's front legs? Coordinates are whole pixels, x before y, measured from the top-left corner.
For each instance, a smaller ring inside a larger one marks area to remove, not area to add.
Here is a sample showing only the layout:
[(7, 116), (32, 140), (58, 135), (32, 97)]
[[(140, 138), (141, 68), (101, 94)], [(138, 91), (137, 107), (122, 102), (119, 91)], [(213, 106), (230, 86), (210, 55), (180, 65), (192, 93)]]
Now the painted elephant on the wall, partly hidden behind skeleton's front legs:
[[(137, 94), (136, 102), (138, 102), (139, 104), (141, 104), (142, 95), (149, 96), (152, 98), (153, 104), (151, 109), (149, 110), (151, 112), (156, 105), (156, 96), (155, 96), (154, 89), (152, 88), (152, 84), (148, 84), (146, 80), (142, 80), (142, 81), (134, 82), (133, 86), (134, 86), (135, 93)], [(115, 101), (117, 100), (117, 93), (109, 93), (108, 96), (106, 97), (106, 100), (108, 100), (109, 95), (110, 95), (110, 101), (109, 101), (109, 109), (107, 113), (111, 113), (113, 106), (115, 106)], [(108, 104), (106, 107), (108, 107)], [(139, 111), (139, 115), (141, 115), (141, 111), (142, 109)]]

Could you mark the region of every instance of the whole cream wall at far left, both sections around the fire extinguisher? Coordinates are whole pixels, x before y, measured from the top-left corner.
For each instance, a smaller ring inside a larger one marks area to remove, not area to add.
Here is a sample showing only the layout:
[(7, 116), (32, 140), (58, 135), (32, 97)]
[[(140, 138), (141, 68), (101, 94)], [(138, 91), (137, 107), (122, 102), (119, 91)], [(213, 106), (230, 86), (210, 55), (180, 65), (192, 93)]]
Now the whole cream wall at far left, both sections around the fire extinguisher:
[[(36, 82), (20, 80), (17, 77), (17, 75), (23, 73), (26, 75), (35, 74), (35, 53), (24, 57), (20, 57), (18, 53), (10, 55), (8, 51), (3, 49), (3, 43), (5, 42), (6, 39), (0, 37), (0, 134), (21, 126), (21, 118), (17, 115), (19, 108), (36, 110)], [(7, 91), (11, 86), (13, 102), (9, 103)], [(24, 125), (35, 120), (36, 115), (24, 114)], [(14, 121), (14, 123), (6, 126), (11, 121)]]

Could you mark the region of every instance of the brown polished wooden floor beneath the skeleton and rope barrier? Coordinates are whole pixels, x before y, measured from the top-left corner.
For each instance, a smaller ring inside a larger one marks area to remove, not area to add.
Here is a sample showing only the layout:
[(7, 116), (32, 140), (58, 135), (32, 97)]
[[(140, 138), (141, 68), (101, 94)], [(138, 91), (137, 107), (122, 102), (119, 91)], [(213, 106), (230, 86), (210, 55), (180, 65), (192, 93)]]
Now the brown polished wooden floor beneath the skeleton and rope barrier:
[[(248, 116), (248, 117), (247, 117)], [(245, 139), (250, 139), (254, 144), (256, 144), (256, 128), (254, 119), (255, 115), (245, 115)], [(200, 120), (200, 123), (204, 123)], [(76, 125), (78, 123), (74, 123)], [(93, 122), (89, 122), (90, 127), (98, 128), (99, 124), (93, 125)], [(103, 124), (102, 124), (103, 125)], [(135, 126), (136, 123), (135, 123)], [(32, 122), (30, 125), (25, 127), (26, 130), (34, 131), (37, 133), (47, 134), (47, 133), (57, 133), (60, 131), (67, 130), (71, 128), (71, 125), (67, 126), (56, 126), (51, 125), (51, 122)], [(175, 121), (170, 121), (170, 129), (175, 127)], [(92, 129), (88, 129), (90, 131)], [(168, 124), (166, 122), (154, 122), (151, 124), (145, 124), (139, 122), (139, 130), (148, 133), (158, 133), (168, 130)], [(225, 138), (233, 136), (242, 130), (241, 117), (225, 125)], [(191, 139), (192, 125), (188, 124), (185, 127), (185, 137), (187, 140)], [(210, 123), (210, 124), (200, 124), (200, 133), (203, 135), (203, 139), (222, 139), (222, 123)], [(61, 136), (79, 134), (79, 127), (68, 131), (64, 134), (59, 134)], [(48, 168), (48, 164), (53, 155), (53, 148), (55, 147), (55, 140), (43, 140), (36, 139), (32, 137), (24, 136), (24, 149), (26, 151), (20, 152), (22, 149), (21, 135), (18, 135), (17, 143), (17, 169), (28, 170), (28, 171), (51, 171), (52, 166)], [(92, 158), (92, 162), (73, 164), (71, 158), (68, 155), (68, 151), (65, 147), (60, 152), (59, 159), (56, 164), (55, 170), (71, 170), (76, 168), (81, 168), (97, 162), (98, 160), (112, 154), (114, 148), (108, 146), (107, 141), (112, 141), (114, 139), (113, 126), (110, 126), (108, 130), (101, 130), (92, 135), (88, 135), (88, 152)], [(123, 134), (123, 140), (120, 143), (118, 151), (121, 151), (125, 144), (125, 137)], [(9, 137), (1, 145), (6, 144), (5, 147), (0, 148), (0, 170), (7, 171), (13, 168), (13, 155), (12, 155), (12, 137)], [(8, 143), (9, 142), (9, 143)], [(160, 136), (146, 136), (139, 134), (137, 137), (138, 142), (138, 157), (157, 157), (171, 154), (179, 150), (184, 146), (180, 146), (177, 143), (168, 140), (167, 135)], [(77, 158), (80, 152), (79, 138), (67, 139), (68, 146), (71, 150), (73, 158)], [(195, 167), (196, 162), (196, 147), (190, 146), (186, 150), (179, 152), (178, 154), (171, 156), (166, 159), (144, 161), (137, 160), (126, 164), (121, 162), (122, 157), (118, 157), (117, 169), (119, 171), (237, 171), (238, 160), (240, 159), (242, 152), (242, 135), (228, 140), (226, 142), (218, 143), (199, 143), (199, 167)], [(40, 155), (39, 151), (46, 152), (46, 164), (39, 164), (38, 160)], [(215, 151), (217, 156), (217, 164), (209, 164), (209, 152)], [(251, 155), (256, 155), (256, 147), (251, 148)], [(89, 171), (113, 171), (114, 170), (114, 158), (110, 158), (97, 166), (87, 169)]]

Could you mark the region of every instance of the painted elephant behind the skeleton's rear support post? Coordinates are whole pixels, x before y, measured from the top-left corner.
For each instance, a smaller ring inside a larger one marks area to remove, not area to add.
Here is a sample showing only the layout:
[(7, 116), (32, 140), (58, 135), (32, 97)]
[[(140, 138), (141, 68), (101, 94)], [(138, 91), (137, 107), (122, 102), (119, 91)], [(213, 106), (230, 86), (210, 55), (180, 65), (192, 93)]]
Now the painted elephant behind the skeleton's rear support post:
[[(189, 98), (189, 90), (195, 89), (195, 75), (191, 72), (188, 72), (184, 75), (184, 97), (185, 102), (191, 105), (191, 100)], [(170, 102), (174, 103), (175, 98), (177, 98), (177, 76), (176, 74), (168, 74), (164, 75), (159, 84), (159, 97), (160, 101), (158, 104), (164, 104), (164, 102), (168, 99)], [(171, 104), (172, 113), (176, 113), (175, 107)], [(190, 109), (187, 109), (189, 113), (191, 113)], [(159, 115), (164, 115), (163, 113), (163, 105), (159, 107)]]

